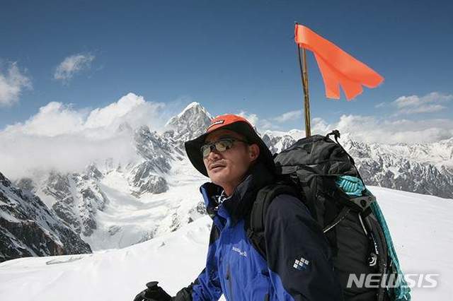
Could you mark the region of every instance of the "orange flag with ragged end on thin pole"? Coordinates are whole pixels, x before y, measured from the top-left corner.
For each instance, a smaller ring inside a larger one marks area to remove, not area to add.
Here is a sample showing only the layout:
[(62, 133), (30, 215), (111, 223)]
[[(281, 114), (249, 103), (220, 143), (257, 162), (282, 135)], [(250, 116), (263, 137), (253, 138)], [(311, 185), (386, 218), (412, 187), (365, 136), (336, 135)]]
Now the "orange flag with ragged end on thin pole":
[(314, 53), (327, 98), (340, 99), (341, 85), (346, 98), (352, 100), (362, 93), (362, 85), (375, 88), (384, 81), (379, 73), (304, 25), (296, 24), (294, 39), (299, 47)]

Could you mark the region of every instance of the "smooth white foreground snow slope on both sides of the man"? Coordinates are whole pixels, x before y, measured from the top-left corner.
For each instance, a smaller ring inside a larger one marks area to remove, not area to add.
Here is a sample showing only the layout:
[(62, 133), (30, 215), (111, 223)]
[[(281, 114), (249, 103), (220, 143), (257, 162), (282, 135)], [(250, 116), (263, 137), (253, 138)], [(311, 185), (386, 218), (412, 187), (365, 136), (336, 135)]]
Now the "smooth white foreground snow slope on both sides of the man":
[[(437, 288), (413, 289), (413, 300), (453, 294), (453, 200), (369, 187), (389, 223), (406, 273), (439, 273)], [(0, 264), (2, 301), (124, 301), (158, 280), (174, 295), (202, 270), (210, 232), (207, 216), (176, 232), (125, 249), (88, 255), (15, 259)]]

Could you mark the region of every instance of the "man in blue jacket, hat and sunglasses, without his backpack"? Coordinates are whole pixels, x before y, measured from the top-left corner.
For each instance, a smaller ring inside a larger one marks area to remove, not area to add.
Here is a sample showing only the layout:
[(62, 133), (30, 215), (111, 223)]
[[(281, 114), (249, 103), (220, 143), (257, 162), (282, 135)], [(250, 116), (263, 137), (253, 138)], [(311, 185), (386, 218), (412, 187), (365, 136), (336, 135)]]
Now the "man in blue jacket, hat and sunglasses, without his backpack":
[(281, 194), (270, 203), (265, 258), (248, 238), (248, 214), (258, 190), (275, 182), (275, 165), (246, 119), (214, 118), (185, 150), (211, 180), (200, 187), (213, 220), (206, 267), (176, 297), (154, 282), (135, 300), (342, 300), (328, 243), (299, 199)]

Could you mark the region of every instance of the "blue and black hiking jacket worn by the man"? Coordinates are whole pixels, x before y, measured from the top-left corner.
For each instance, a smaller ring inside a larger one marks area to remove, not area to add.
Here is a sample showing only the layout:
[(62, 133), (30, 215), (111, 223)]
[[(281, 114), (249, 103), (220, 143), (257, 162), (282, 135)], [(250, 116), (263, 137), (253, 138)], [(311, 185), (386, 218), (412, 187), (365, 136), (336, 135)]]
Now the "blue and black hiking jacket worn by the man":
[(222, 189), (200, 187), (213, 220), (206, 267), (174, 300), (343, 300), (333, 271), (331, 250), (304, 203), (277, 196), (265, 218), (266, 258), (247, 237), (247, 215), (257, 191), (273, 183), (263, 165), (256, 165), (221, 205)]

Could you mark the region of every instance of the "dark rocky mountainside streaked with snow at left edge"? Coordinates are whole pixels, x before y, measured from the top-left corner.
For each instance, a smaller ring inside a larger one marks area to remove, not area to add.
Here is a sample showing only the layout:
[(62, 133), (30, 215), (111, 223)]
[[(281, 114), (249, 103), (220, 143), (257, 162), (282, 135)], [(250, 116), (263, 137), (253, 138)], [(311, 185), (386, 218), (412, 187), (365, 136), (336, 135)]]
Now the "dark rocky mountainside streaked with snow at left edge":
[(0, 262), (23, 256), (91, 253), (38, 196), (0, 173)]

